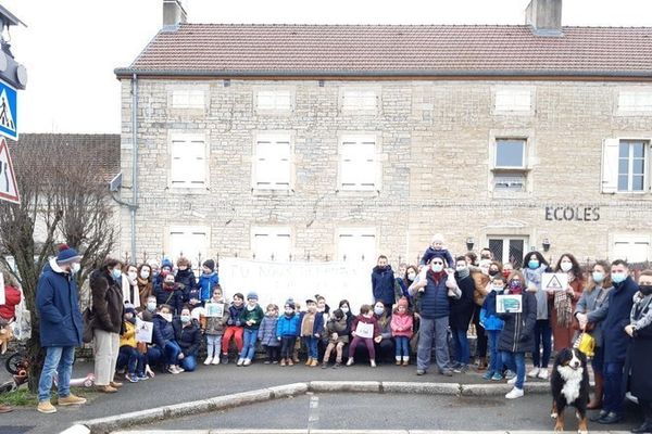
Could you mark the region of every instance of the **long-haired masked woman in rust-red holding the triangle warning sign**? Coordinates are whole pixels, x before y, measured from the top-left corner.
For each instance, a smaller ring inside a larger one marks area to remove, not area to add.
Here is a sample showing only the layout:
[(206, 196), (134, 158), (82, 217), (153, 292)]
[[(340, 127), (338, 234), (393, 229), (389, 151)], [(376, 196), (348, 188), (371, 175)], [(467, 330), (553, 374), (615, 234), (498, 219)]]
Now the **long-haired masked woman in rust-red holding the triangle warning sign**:
[(568, 288), (564, 291), (548, 291), (548, 298), (553, 301), (553, 309), (550, 312), (552, 336), (554, 337), (554, 350), (560, 352), (573, 346), (578, 326), (574, 322), (573, 312), (581, 297), (584, 279), (581, 269), (575, 256), (569, 253), (563, 254), (554, 268), (554, 272), (568, 276)]

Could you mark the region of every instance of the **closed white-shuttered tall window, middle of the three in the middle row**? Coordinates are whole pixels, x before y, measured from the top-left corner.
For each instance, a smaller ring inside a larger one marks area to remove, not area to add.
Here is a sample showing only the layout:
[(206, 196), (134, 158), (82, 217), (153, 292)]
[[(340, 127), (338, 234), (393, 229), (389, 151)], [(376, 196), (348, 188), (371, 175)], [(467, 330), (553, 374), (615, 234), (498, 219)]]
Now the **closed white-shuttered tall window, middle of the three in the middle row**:
[(258, 135), (253, 158), (253, 188), (289, 190), (292, 179), (290, 135)]

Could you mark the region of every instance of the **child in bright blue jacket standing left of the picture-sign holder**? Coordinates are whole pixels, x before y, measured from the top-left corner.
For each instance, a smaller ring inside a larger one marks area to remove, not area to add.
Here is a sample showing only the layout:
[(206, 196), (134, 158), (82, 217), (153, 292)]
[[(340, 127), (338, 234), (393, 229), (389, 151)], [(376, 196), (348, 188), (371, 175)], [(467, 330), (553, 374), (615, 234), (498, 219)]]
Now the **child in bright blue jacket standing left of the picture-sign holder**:
[(480, 310), (480, 326), (487, 332), (489, 342), (489, 368), (482, 378), (485, 380), (501, 381), (502, 376), (502, 360), (498, 353), (498, 339), (500, 331), (503, 329), (503, 321), (499, 318), (496, 311), (496, 296), (502, 294), (507, 280), (502, 275), (497, 275), (491, 280), (491, 292), (485, 298), (482, 309)]

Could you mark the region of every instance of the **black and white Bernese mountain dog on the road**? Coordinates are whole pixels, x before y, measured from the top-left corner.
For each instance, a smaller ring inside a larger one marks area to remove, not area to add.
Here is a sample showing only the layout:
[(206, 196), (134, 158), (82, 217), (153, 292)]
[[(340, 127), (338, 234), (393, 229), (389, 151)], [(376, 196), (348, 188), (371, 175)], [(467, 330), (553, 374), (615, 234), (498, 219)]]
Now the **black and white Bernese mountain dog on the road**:
[(587, 405), (589, 404), (589, 371), (587, 357), (577, 348), (564, 348), (554, 360), (550, 378), (552, 413), (556, 419), (555, 432), (564, 431), (564, 410), (575, 407), (579, 420), (577, 432), (587, 434)]

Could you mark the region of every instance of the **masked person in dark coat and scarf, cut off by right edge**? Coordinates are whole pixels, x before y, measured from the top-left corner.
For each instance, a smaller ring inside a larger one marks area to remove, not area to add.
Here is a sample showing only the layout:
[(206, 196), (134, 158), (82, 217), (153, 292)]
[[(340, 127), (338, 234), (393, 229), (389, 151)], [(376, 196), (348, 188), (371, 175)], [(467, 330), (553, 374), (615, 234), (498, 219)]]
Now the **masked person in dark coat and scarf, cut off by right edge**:
[(625, 372), (629, 372), (629, 391), (637, 397), (643, 424), (632, 433), (652, 432), (652, 270), (639, 276), (639, 292), (635, 295), (629, 324), (625, 332), (631, 336)]

